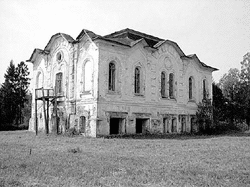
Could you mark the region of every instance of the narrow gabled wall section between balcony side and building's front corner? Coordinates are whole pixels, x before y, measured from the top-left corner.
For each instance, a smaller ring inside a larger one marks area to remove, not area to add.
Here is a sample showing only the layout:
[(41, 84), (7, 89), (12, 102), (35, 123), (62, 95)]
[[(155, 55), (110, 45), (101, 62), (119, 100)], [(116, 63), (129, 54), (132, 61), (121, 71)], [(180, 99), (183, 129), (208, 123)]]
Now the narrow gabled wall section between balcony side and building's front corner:
[(96, 136), (99, 50), (84, 36), (78, 44), (76, 65), (76, 116), (86, 119), (87, 136)]

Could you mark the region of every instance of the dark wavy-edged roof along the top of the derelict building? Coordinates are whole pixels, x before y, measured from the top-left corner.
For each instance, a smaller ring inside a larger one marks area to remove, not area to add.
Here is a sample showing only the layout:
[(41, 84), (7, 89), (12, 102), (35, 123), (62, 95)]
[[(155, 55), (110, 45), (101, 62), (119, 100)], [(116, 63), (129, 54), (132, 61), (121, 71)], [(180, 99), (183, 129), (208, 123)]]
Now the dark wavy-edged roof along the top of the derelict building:
[(103, 41), (107, 41), (107, 42), (111, 42), (111, 43), (115, 43), (115, 44), (119, 44), (119, 45), (123, 45), (127, 47), (133, 47), (134, 45), (140, 42), (144, 42), (144, 45), (146, 45), (145, 47), (149, 47), (153, 50), (158, 50), (163, 44), (167, 43), (171, 45), (172, 47), (174, 47), (174, 49), (177, 51), (177, 53), (180, 55), (181, 58), (195, 59), (198, 63), (200, 63), (202, 67), (209, 68), (212, 71), (218, 70), (216, 68), (206, 65), (204, 62), (201, 62), (196, 54), (185, 55), (185, 53), (182, 51), (179, 45), (171, 40), (164, 40), (164, 39), (161, 39), (161, 38), (149, 35), (149, 34), (145, 34), (139, 31), (135, 31), (129, 28), (116, 31), (114, 33), (111, 33), (105, 36), (100, 36), (90, 30), (83, 29), (80, 32), (80, 34), (76, 37), (76, 40), (74, 40), (70, 35), (67, 35), (64, 33), (57, 33), (50, 38), (44, 50), (35, 49), (28, 61), (32, 61), (37, 54), (46, 53), (49, 50), (49, 46), (54, 40), (54, 38), (58, 36), (63, 37), (69, 43), (75, 43), (75, 42), (79, 42), (84, 35), (87, 35), (93, 41), (99, 39), (99, 40), (103, 40)]

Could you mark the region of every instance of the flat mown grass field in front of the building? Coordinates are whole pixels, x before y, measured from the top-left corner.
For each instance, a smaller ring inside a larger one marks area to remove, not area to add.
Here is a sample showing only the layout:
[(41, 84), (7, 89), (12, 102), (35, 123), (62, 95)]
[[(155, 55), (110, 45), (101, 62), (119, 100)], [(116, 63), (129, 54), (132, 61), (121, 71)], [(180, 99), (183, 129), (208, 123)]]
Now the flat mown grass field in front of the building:
[(250, 186), (250, 135), (105, 139), (0, 132), (0, 186)]

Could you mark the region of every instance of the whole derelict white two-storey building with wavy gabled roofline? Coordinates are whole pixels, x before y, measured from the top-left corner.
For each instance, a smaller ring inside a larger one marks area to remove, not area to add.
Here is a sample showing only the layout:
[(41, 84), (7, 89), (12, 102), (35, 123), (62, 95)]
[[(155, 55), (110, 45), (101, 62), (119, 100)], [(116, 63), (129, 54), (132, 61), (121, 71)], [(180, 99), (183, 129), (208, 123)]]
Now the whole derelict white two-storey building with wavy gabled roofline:
[[(75, 128), (86, 136), (197, 131), (195, 113), (212, 97), (212, 72), (196, 55), (173, 41), (124, 29), (106, 36), (82, 30), (74, 40), (58, 33), (44, 50), (35, 49), (35, 89), (53, 89), (60, 132)], [(49, 132), (55, 129), (49, 105)], [(30, 130), (35, 129), (33, 97)], [(37, 127), (44, 130), (43, 103)]]

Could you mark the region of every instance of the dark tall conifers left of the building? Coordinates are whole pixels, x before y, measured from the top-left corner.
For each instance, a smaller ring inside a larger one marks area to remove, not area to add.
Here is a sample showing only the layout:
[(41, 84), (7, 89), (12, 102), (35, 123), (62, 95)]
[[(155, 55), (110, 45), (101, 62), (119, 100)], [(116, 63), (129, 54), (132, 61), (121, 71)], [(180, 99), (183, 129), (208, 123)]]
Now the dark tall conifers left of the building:
[(31, 94), (28, 91), (28, 67), (24, 62), (10, 62), (0, 87), (0, 130), (28, 127), (31, 115)]

